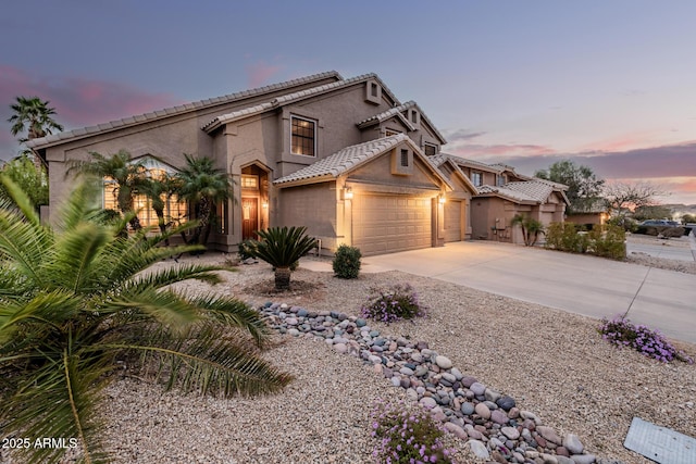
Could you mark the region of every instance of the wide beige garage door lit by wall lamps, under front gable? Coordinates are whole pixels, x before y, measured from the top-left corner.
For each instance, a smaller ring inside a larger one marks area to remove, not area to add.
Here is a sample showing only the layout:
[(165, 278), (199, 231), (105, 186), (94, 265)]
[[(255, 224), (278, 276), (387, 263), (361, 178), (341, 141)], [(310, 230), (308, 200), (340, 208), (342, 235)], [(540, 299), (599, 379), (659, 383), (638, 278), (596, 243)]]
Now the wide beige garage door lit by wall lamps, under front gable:
[(430, 198), (359, 195), (352, 218), (353, 246), (364, 255), (432, 246)]

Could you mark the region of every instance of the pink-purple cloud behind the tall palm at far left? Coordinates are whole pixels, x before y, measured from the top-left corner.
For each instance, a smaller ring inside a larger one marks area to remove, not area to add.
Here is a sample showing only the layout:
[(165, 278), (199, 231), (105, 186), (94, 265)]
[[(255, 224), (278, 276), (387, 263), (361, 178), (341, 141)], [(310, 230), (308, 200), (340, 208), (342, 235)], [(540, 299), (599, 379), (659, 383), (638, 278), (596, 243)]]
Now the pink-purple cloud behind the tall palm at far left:
[(4, 103), (0, 106), (0, 117), (4, 122), (10, 116), (9, 104), (17, 96), (49, 100), (55, 108), (55, 121), (66, 129), (183, 103), (169, 93), (152, 93), (115, 81), (36, 76), (24, 70), (0, 65), (0, 103)]

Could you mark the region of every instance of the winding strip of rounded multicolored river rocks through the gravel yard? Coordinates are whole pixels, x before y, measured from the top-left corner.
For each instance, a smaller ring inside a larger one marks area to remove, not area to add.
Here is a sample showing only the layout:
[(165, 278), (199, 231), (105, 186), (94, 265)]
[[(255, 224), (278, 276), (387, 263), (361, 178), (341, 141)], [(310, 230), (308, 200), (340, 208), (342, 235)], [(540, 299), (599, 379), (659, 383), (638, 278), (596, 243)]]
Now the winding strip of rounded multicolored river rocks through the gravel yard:
[(462, 374), (425, 341), (383, 335), (368, 321), (334, 311), (266, 302), (258, 309), (281, 334), (325, 342), (338, 353), (372, 364), (394, 387), (428, 409), (445, 429), (467, 441), (480, 459), (524, 464), (622, 464), (597, 459), (576, 435), (559, 436), (513, 398)]

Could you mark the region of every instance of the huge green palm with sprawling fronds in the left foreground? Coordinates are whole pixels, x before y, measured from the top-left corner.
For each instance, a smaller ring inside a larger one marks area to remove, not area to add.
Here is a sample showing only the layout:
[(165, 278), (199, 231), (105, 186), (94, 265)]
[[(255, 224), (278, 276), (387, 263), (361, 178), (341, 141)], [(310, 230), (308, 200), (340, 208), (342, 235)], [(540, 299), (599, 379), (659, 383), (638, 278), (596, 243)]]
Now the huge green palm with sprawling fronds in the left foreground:
[[(185, 279), (215, 284), (220, 267), (142, 272), (171, 251), (156, 247), (162, 236), (121, 238), (120, 226), (94, 221), (98, 181), (71, 193), (55, 229), (14, 183), (0, 181), (15, 203), (0, 205), (0, 430), (32, 442), (73, 437), (83, 462), (105, 462), (96, 412), (120, 362), (154, 366), (167, 389), (226, 397), (276, 392), (290, 380), (259, 356), (269, 328), (257, 311), (171, 289)], [(58, 462), (64, 450), (20, 452)]]

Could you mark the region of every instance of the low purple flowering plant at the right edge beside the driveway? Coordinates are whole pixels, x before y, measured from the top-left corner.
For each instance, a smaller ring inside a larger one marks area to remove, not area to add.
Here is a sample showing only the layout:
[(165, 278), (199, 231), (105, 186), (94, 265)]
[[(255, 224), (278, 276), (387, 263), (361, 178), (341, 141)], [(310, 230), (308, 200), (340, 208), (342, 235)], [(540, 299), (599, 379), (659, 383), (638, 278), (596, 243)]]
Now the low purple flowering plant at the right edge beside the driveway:
[(663, 363), (673, 360), (694, 363), (692, 358), (667, 341), (659, 330), (651, 330), (645, 325), (633, 325), (625, 315), (617, 316), (611, 321), (601, 319), (599, 333), (601, 338), (612, 344), (633, 348), (638, 353)]

